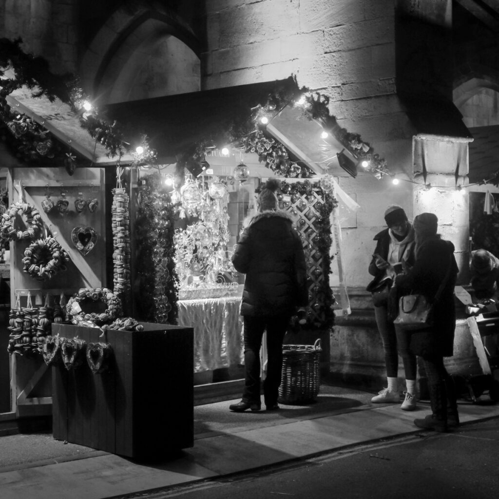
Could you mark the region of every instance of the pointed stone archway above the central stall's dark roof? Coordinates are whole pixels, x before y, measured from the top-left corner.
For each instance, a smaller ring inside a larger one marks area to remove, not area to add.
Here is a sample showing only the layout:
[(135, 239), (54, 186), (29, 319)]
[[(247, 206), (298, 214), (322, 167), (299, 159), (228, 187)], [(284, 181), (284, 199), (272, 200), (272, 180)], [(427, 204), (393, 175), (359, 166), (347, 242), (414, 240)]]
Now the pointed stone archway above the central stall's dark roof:
[(118, 8), (83, 54), (79, 73), (98, 105), (200, 90), (200, 42), (169, 10)]

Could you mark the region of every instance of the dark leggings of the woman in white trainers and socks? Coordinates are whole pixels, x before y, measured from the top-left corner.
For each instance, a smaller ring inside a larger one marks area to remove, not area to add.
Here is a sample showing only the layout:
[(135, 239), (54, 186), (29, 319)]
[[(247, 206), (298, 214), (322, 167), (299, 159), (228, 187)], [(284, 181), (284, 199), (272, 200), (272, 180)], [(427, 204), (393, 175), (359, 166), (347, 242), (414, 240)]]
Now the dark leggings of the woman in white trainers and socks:
[(374, 315), (385, 351), (386, 375), (389, 378), (398, 377), (400, 353), (404, 363), (406, 379), (415, 380), (417, 369), (416, 355), (409, 350), (410, 336), (399, 328), (396, 328), (393, 322), (388, 320), (388, 309), (386, 306), (374, 307)]

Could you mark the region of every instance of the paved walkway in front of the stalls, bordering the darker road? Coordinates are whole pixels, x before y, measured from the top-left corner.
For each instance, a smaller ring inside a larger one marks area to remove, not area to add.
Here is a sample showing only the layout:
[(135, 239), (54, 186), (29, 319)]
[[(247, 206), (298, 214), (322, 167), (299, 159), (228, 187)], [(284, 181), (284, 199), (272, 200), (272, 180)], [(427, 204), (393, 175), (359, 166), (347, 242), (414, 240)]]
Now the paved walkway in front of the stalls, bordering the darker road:
[[(321, 384), (315, 403), (281, 405), (274, 412), (230, 412), (239, 399), (196, 406), (194, 447), (154, 463), (63, 443), (46, 433), (0, 437), (1, 498), (147, 495), (422, 432), (413, 420), (428, 414), (428, 401), (406, 412), (399, 404), (371, 404), (372, 396)], [(486, 394), (478, 403), (461, 400), (459, 412), (466, 425), (499, 417), (499, 404)]]

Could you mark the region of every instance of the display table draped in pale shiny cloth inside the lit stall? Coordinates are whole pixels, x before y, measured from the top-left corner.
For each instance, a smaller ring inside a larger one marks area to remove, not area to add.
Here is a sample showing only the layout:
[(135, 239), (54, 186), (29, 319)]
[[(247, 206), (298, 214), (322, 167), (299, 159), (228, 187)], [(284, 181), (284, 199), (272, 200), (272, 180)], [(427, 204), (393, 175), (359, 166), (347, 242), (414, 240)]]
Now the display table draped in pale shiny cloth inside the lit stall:
[(179, 325), (194, 328), (194, 371), (242, 363), (241, 296), (179, 300)]

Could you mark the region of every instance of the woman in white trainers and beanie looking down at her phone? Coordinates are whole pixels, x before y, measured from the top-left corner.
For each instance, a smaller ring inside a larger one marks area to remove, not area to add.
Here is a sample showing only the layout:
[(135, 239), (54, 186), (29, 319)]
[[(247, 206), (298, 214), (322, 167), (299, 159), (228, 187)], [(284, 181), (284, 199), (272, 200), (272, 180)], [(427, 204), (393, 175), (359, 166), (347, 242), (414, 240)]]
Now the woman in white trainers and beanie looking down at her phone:
[[(379, 289), (383, 282), (391, 286), (395, 275), (409, 270), (414, 265), (414, 229), (403, 208), (389, 206), (385, 211), (388, 226), (376, 234), (376, 249), (369, 264), (369, 273), (374, 279), (367, 286), (368, 291)], [(373, 292), (373, 300), (376, 291)], [(376, 325), (383, 342), (387, 387), (371, 399), (375, 404), (398, 403), (399, 352), (404, 363), (406, 378), (405, 399), (401, 408), (412, 411), (416, 408), (416, 356), (409, 349), (409, 337), (395, 327), (388, 314), (388, 299), (374, 301)]]

